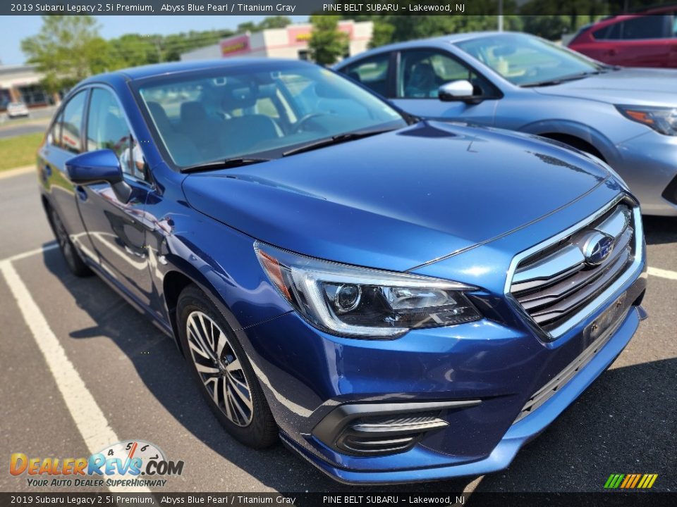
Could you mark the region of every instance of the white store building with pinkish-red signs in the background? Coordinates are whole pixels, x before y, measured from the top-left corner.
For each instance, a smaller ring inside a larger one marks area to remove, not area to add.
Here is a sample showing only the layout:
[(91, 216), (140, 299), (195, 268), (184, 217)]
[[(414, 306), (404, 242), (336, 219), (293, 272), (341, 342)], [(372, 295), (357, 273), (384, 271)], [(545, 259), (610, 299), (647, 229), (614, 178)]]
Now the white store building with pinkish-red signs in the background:
[[(372, 39), (373, 29), (374, 25), (371, 21), (343, 20), (338, 23), (338, 30), (348, 34), (348, 56), (367, 49)], [(211, 60), (234, 56), (307, 60), (311, 31), (312, 25), (303, 24), (233, 35), (233, 37), (222, 39), (219, 44), (183, 53), (181, 60)]]

